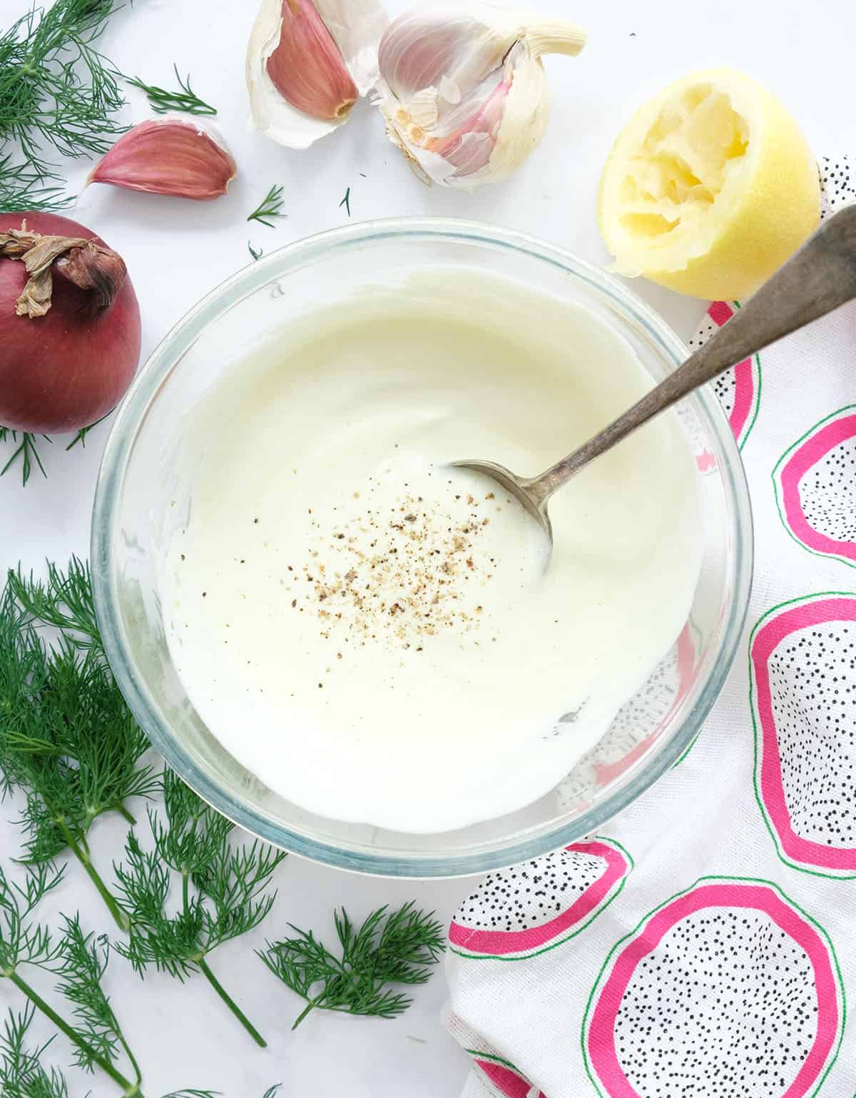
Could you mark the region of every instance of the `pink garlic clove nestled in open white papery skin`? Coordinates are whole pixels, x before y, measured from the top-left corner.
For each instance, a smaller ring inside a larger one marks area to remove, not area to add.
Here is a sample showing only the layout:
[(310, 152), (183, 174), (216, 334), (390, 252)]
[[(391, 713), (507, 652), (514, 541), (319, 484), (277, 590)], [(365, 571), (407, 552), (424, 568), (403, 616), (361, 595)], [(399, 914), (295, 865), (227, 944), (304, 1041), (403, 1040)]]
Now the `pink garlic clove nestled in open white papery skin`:
[(266, 64), (274, 88), (314, 119), (345, 119), (359, 98), (312, 0), (282, 0), (280, 41)]

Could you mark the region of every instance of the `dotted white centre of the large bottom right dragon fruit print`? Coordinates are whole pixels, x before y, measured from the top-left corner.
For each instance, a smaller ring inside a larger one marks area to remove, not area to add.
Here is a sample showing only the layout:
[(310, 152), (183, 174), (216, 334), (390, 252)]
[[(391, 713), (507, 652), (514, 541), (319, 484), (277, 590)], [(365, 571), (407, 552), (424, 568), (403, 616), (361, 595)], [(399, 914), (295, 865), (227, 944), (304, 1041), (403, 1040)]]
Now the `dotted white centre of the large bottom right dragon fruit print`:
[(639, 963), (616, 1053), (640, 1098), (780, 1098), (816, 1029), (804, 951), (763, 911), (709, 908)]

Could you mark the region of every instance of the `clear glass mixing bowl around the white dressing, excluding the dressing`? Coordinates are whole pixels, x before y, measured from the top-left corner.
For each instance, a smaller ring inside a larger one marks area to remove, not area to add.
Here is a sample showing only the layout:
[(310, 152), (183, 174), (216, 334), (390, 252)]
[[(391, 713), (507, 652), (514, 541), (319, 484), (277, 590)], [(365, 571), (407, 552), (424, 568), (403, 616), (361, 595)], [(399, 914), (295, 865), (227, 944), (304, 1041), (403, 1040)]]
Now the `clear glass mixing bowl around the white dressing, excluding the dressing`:
[(733, 661), (752, 576), (743, 467), (729, 422), (705, 390), (678, 408), (696, 458), (702, 523), (703, 559), (689, 618), (601, 742), (551, 793), (498, 819), (408, 834), (305, 811), (232, 758), (182, 687), (160, 609), (157, 561), (177, 505), (170, 470), (182, 421), (257, 341), (342, 287), (376, 285), (380, 278), (388, 284), (437, 266), (486, 271), (586, 305), (623, 335), (656, 380), (687, 355), (621, 283), (541, 240), (437, 219), (335, 229), (249, 265), (169, 333), (119, 410), (92, 518), (92, 579), (106, 653), (169, 765), (252, 834), (319, 862), (388, 876), (455, 876), (509, 865), (586, 836), (626, 808), (690, 749)]

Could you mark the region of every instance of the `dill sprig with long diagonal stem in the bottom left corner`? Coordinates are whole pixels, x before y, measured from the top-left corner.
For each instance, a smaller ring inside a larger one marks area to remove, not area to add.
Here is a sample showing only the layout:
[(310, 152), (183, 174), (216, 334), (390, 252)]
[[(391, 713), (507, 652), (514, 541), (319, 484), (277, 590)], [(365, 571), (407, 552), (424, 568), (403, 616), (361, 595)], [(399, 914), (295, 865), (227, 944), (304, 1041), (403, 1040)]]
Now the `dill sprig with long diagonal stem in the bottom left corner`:
[[(42, 1098), (43, 1095), (65, 1098), (67, 1091), (61, 1075), (47, 1075), (38, 1065), (38, 1055), (45, 1046), (24, 1051), (26, 1029), (34, 1010), (40, 1010), (71, 1042), (79, 1066), (88, 1071), (100, 1067), (122, 1088), (123, 1095), (142, 1098), (139, 1067), (101, 987), (106, 948), (82, 931), (77, 916), (74, 919), (64, 917), (58, 935), (33, 917), (35, 907), (61, 878), (61, 870), (53, 873), (41, 865), (20, 885), (11, 882), (0, 869), (0, 979), (9, 979), (27, 1000), (24, 1012), (13, 1017), (5, 1027), (2, 1071), (11, 1078), (11, 1084), (3, 1095), (11, 1093), (14, 1096), (12, 1086), (16, 1086), (19, 1094), (27, 1098)], [(63, 1018), (24, 978), (21, 970), (26, 966), (49, 972), (58, 978), (57, 991), (74, 1008), (71, 1020)], [(120, 1050), (128, 1058), (133, 1079), (126, 1078), (116, 1067)], [(5, 1084), (7, 1079), (3, 1082)], [(40, 1091), (38, 1085), (50, 1089)]]

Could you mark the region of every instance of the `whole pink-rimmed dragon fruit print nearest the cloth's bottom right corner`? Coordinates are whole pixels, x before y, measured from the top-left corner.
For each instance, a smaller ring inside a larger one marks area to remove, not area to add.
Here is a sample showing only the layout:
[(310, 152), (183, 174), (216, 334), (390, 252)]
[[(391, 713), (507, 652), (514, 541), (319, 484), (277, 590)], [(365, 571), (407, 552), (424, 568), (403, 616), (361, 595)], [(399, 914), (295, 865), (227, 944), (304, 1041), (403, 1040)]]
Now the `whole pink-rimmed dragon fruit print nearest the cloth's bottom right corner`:
[(583, 1054), (604, 1098), (808, 1098), (843, 1020), (825, 931), (770, 882), (702, 877), (615, 946)]

